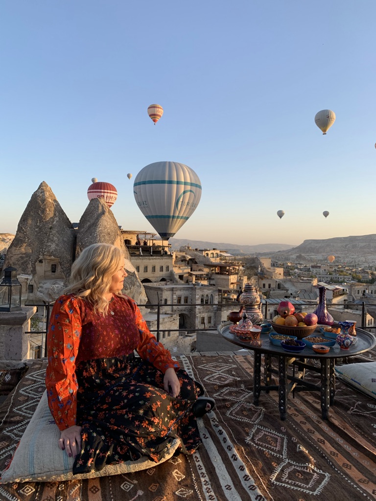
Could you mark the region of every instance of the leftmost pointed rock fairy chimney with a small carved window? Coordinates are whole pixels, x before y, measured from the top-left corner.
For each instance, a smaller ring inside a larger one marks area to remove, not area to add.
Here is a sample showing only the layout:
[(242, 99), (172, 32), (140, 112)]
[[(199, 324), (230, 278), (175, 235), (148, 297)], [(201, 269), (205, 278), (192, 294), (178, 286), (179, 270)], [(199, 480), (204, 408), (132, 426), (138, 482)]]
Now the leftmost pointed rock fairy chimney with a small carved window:
[[(54, 301), (64, 288), (73, 261), (75, 233), (51, 188), (43, 181), (26, 206), (6, 264), (30, 277), (28, 301)], [(54, 293), (51, 295), (52, 291)]]

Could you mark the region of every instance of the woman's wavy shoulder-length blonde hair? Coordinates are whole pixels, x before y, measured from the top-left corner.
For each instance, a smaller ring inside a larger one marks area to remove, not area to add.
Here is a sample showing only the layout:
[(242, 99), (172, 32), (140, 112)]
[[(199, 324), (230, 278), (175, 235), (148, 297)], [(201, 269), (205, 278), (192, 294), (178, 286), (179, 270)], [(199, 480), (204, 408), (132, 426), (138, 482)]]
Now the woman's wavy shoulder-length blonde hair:
[[(108, 294), (113, 275), (124, 262), (121, 250), (110, 243), (93, 243), (84, 248), (73, 263), (69, 286), (64, 294), (73, 294), (93, 305), (94, 311), (108, 313)], [(115, 293), (121, 296), (121, 293)]]

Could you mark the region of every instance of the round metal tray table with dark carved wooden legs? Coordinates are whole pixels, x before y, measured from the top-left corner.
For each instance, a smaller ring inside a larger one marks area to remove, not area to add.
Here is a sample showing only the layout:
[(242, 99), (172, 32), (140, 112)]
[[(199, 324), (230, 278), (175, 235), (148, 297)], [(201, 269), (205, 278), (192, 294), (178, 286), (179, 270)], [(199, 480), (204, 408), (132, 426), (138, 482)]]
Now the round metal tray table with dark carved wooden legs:
[[(224, 322), (217, 327), (218, 332), (230, 343), (253, 351), (253, 402), (259, 403), (261, 391), (278, 391), (278, 405), (281, 419), (286, 419), (287, 395), (291, 391), (320, 391), (322, 419), (328, 419), (329, 407), (334, 404), (335, 372), (334, 363), (337, 358), (347, 358), (359, 355), (372, 349), (376, 345), (373, 334), (362, 329), (356, 329), (356, 342), (348, 350), (341, 350), (338, 344), (330, 348), (326, 354), (315, 353), (311, 348), (305, 347), (298, 354), (285, 351), (282, 346), (273, 345), (268, 334), (261, 334), (261, 347), (251, 346), (247, 341), (241, 341), (236, 334), (230, 332), (232, 322)], [(274, 331), (272, 330), (272, 333)], [(313, 334), (311, 334), (312, 336)], [(323, 337), (317, 329), (314, 335)], [(304, 339), (302, 339), (304, 341)], [(261, 384), (261, 355), (264, 355), (264, 384)], [(273, 367), (273, 358), (278, 358), (278, 369)], [(307, 360), (319, 359), (320, 366), (308, 364)], [(292, 374), (288, 368), (292, 366)], [(320, 383), (313, 384), (304, 380), (305, 370), (309, 369), (321, 375)], [(272, 384), (272, 375), (278, 375), (278, 385)]]

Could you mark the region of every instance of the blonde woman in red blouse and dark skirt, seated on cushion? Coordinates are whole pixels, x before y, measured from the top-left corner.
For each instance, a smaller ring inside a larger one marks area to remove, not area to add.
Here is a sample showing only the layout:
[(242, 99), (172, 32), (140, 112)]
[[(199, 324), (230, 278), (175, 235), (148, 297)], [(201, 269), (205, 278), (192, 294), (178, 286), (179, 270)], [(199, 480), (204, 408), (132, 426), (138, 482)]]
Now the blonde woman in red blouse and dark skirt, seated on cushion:
[(175, 438), (180, 452), (192, 454), (201, 444), (195, 418), (215, 405), (197, 399), (202, 386), (179, 369), (135, 302), (121, 294), (126, 276), (120, 249), (90, 245), (51, 313), (48, 401), (59, 446), (75, 456), (74, 474), (145, 455), (157, 462)]

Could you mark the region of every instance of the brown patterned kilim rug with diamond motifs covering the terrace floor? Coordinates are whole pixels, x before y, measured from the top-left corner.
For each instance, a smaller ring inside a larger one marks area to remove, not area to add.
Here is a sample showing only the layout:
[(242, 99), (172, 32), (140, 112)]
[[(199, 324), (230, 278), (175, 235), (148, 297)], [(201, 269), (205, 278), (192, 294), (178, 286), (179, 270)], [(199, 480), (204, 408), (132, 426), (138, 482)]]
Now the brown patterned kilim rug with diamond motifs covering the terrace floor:
[[(373, 354), (363, 358), (373, 359)], [(181, 356), (180, 365), (214, 397), (199, 420), (203, 445), (137, 473), (60, 483), (0, 485), (10, 501), (357, 501), (376, 499), (376, 401), (337, 380), (322, 421), (319, 393), (277, 393), (253, 405), (253, 356)], [(0, 411), (4, 469), (44, 391), (46, 362), (35, 362)], [(317, 381), (317, 374), (307, 374)]]

